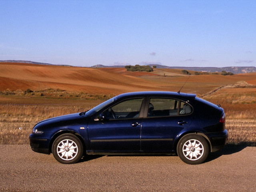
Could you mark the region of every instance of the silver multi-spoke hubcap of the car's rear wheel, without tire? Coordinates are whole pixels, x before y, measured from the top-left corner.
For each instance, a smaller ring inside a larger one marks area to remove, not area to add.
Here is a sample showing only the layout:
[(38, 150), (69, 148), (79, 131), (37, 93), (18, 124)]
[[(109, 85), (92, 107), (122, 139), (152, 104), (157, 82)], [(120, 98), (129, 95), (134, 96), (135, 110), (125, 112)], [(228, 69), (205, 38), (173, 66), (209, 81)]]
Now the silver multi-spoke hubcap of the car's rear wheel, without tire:
[(204, 146), (200, 141), (190, 139), (184, 143), (182, 152), (188, 160), (195, 161), (200, 159), (204, 154)]

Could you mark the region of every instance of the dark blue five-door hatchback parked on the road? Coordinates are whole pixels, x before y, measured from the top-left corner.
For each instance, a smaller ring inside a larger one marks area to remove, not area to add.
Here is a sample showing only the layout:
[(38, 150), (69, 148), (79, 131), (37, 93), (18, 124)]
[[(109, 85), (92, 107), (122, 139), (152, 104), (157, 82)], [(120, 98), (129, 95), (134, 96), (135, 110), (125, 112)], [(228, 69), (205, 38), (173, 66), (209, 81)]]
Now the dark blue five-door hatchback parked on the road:
[(41, 121), (29, 138), (33, 151), (64, 164), (87, 154), (178, 154), (200, 164), (225, 146), (228, 131), (224, 110), (195, 94), (132, 92)]

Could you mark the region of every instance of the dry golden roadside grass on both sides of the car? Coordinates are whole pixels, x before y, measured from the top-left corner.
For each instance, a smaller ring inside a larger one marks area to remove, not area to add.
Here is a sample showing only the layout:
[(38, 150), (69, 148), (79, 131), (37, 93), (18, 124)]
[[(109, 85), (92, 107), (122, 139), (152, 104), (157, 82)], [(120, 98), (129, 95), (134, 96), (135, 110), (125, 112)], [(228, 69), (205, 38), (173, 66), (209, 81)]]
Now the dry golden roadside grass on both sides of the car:
[[(41, 100), (42, 101), (42, 100)], [(61, 104), (70, 100), (54, 100), (40, 104), (0, 104), (0, 144), (29, 144), (28, 136), (33, 126), (46, 118), (82, 112), (92, 108), (102, 100), (72, 100), (71, 104)], [(40, 103), (40, 100), (38, 100)], [(45, 102), (45, 101), (44, 101)], [(81, 104), (83, 102), (83, 104)], [(49, 104), (50, 103), (50, 104)], [(228, 144), (256, 146), (255, 110), (226, 109), (226, 128), (229, 132)], [(241, 105), (240, 105), (241, 107)]]

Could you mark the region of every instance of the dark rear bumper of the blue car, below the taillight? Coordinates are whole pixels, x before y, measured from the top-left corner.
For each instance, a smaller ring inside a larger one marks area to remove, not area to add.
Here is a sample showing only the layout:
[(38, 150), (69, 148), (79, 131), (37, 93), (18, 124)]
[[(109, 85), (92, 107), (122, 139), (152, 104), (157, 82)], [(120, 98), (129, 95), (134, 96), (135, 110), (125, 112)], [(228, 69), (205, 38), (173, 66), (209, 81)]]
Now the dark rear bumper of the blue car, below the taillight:
[(228, 130), (224, 130), (220, 133), (214, 133), (207, 135), (211, 143), (211, 152), (221, 150), (228, 141)]

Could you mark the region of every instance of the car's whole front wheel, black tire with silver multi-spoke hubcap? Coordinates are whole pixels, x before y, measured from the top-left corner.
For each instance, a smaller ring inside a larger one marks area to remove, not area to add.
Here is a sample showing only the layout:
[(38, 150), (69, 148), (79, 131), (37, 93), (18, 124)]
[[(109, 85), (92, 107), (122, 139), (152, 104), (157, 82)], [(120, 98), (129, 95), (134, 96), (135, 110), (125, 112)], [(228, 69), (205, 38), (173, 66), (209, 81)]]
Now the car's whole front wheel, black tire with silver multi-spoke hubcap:
[(60, 163), (76, 163), (83, 156), (82, 142), (74, 134), (62, 134), (54, 140), (52, 144), (52, 154)]

